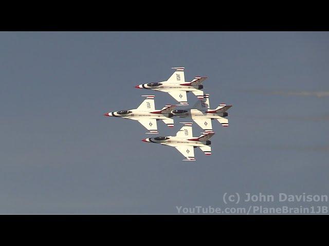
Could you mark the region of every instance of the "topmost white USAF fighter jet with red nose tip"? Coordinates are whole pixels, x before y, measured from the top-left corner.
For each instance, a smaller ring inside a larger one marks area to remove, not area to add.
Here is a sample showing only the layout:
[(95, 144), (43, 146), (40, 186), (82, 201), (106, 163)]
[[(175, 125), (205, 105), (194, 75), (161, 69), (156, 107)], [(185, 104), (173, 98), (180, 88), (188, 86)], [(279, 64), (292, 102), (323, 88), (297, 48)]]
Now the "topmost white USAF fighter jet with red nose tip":
[(168, 92), (181, 105), (188, 105), (186, 92), (192, 92), (199, 99), (204, 98), (203, 81), (207, 77), (195, 77), (192, 81), (185, 81), (184, 68), (173, 68), (176, 71), (166, 81), (159, 83), (149, 83), (135, 86), (138, 89), (151, 89), (155, 91)]

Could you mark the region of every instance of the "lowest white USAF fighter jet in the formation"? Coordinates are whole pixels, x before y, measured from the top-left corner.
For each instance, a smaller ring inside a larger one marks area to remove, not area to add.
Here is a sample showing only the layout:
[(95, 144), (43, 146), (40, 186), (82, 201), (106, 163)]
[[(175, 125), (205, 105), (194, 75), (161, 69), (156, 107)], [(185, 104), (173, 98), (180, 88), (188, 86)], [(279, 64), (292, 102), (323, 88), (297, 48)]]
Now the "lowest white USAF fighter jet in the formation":
[(176, 136), (145, 138), (142, 141), (175, 147), (185, 156), (186, 159), (184, 160), (195, 160), (194, 148), (196, 147), (199, 147), (206, 155), (211, 155), (211, 141), (209, 139), (214, 135), (214, 132), (204, 132), (199, 137), (193, 137), (192, 123), (180, 123), (184, 126), (176, 133)]

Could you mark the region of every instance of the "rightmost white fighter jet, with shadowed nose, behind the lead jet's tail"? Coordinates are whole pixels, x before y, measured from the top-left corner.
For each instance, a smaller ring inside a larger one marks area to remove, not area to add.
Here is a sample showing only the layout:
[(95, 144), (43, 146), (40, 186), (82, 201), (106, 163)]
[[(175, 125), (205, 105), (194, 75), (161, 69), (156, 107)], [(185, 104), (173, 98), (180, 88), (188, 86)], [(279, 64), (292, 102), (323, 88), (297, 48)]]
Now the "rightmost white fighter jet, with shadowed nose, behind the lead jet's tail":
[(228, 127), (228, 119), (224, 118), (228, 116), (226, 112), (232, 105), (220, 104), (215, 109), (210, 109), (209, 106), (209, 94), (204, 95), (205, 101), (197, 101), (191, 109), (187, 110), (173, 110), (174, 116), (182, 118), (192, 118), (194, 122), (199, 125), (205, 132), (212, 132), (211, 120), (218, 120), (223, 127)]

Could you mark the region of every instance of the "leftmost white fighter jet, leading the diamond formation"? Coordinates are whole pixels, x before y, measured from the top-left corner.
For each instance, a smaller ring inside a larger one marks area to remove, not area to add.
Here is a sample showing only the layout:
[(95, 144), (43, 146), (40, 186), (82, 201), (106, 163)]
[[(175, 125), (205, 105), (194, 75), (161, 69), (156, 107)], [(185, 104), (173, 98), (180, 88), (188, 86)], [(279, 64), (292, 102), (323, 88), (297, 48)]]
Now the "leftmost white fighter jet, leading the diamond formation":
[(147, 132), (147, 134), (158, 133), (156, 121), (160, 119), (165, 122), (168, 127), (174, 126), (174, 120), (171, 119), (171, 117), (173, 117), (171, 111), (176, 107), (175, 105), (166, 105), (161, 110), (155, 110), (154, 95), (142, 96), (145, 96), (146, 98), (137, 109), (109, 112), (104, 115), (138, 120), (140, 124), (142, 124), (146, 129), (150, 131)]

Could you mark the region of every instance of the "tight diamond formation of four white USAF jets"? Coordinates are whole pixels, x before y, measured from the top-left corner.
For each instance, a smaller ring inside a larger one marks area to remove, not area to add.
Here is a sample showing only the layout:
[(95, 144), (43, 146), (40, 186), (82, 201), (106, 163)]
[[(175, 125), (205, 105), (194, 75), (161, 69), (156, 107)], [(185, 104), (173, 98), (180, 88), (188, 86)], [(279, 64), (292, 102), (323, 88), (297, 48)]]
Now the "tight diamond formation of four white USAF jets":
[[(185, 81), (184, 68), (173, 68), (175, 72), (166, 81), (135, 86), (138, 89), (150, 89), (169, 93), (180, 104), (166, 105), (161, 110), (155, 109), (154, 95), (142, 95), (146, 97), (136, 109), (109, 112), (105, 116), (121, 117), (138, 120), (141, 125), (149, 130), (148, 134), (158, 133), (157, 120), (162, 120), (168, 127), (174, 126), (173, 116), (192, 119), (204, 132), (199, 137), (193, 137), (192, 122), (180, 122), (184, 126), (176, 133), (176, 136), (161, 136), (145, 138), (142, 141), (175, 147), (186, 159), (195, 160), (194, 148), (199, 147), (206, 155), (211, 154), (211, 141), (214, 132), (211, 120), (216, 119), (222, 126), (228, 126), (226, 112), (231, 105), (221, 104), (215, 109), (210, 109), (209, 94), (204, 94), (203, 81), (207, 77), (195, 77), (192, 81)], [(187, 92), (192, 92), (199, 99), (196, 104), (186, 110), (175, 109), (177, 106), (188, 105)]]

